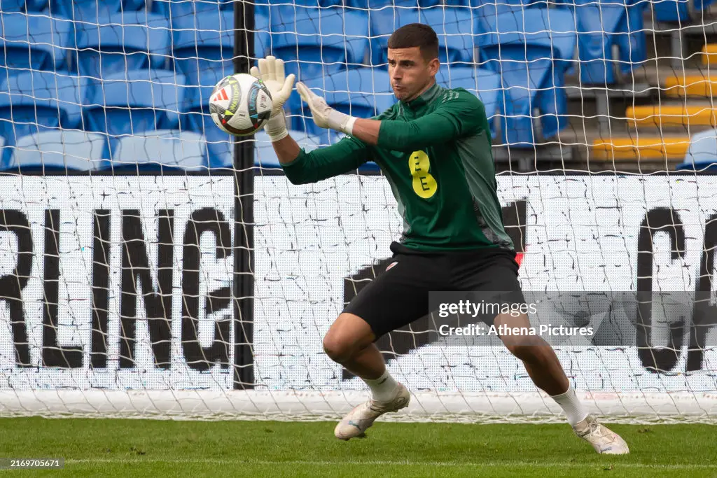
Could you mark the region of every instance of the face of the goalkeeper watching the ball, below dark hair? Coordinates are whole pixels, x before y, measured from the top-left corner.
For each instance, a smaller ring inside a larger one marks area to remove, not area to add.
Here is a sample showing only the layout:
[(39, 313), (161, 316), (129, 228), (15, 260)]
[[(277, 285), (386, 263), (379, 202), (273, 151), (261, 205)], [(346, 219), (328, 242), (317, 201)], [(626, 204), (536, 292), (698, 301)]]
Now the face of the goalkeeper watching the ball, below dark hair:
[(438, 59), (427, 62), (419, 47), (389, 48), (391, 88), (399, 100), (411, 101), (432, 85)]

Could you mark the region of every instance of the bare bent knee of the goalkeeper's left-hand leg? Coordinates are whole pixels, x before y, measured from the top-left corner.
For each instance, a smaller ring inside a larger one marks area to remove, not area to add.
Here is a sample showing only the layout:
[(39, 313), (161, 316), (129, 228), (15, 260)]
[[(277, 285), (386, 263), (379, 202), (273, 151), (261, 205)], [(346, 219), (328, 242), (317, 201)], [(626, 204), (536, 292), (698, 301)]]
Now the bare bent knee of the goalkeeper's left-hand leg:
[(374, 334), (361, 317), (342, 313), (323, 338), (323, 351), (336, 363), (351, 360), (374, 340)]

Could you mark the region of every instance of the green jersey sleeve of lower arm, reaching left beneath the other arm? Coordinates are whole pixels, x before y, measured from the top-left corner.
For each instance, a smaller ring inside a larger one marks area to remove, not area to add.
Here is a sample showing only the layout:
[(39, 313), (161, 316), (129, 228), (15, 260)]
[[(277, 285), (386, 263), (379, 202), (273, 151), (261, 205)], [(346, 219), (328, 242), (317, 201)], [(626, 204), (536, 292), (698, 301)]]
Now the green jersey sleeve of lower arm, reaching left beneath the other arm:
[(281, 166), (293, 184), (308, 184), (348, 173), (371, 160), (371, 150), (364, 143), (346, 137), (309, 153), (302, 149), (294, 161)]

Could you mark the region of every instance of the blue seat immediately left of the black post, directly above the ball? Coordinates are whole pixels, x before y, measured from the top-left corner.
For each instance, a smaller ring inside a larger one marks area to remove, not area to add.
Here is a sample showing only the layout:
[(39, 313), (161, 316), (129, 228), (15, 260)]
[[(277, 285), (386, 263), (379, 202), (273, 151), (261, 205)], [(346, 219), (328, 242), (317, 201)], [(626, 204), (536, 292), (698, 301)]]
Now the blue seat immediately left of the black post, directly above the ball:
[(201, 72), (213, 71), (222, 77), (234, 72), (233, 11), (182, 16), (172, 21), (172, 28), (174, 64), (190, 85), (197, 84)]

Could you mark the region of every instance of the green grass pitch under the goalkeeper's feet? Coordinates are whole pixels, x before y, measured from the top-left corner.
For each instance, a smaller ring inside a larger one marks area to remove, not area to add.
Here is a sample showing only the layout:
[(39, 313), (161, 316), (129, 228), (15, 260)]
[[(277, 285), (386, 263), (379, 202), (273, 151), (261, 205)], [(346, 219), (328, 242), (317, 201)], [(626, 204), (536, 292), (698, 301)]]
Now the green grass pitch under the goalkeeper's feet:
[[(595, 454), (568, 425), (0, 419), (0, 457), (65, 458), (78, 477), (717, 477), (717, 426), (614, 425), (627, 457)], [(9, 472), (6, 472), (9, 473)]]

